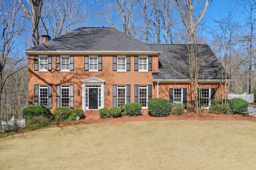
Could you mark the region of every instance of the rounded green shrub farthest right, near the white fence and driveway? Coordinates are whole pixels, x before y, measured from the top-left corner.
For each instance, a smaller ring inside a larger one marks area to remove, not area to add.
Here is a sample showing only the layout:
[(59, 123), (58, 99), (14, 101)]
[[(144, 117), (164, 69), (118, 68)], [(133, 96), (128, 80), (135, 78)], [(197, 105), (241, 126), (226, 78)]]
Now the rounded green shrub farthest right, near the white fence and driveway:
[(248, 109), (248, 102), (246, 100), (240, 98), (234, 98), (229, 100), (230, 109), (232, 113), (235, 114), (242, 114), (247, 111)]

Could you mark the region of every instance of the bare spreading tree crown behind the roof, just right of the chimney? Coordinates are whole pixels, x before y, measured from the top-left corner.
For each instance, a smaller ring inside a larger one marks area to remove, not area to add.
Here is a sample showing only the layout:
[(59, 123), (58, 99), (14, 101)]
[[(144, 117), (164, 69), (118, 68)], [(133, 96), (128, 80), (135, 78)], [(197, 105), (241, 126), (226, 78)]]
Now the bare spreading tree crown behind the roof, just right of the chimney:
[[(80, 23), (84, 15), (80, 12), (82, 0), (46, 0), (42, 10), (42, 25), (46, 33), (56, 38)], [(82, 10), (81, 10), (82, 11)]]

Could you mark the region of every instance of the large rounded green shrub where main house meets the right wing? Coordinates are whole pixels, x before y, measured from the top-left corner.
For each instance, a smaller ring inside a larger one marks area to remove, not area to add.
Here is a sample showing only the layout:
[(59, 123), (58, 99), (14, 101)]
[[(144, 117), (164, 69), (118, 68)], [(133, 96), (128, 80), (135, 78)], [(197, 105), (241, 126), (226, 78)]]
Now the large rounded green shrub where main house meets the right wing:
[(155, 117), (170, 115), (170, 102), (166, 99), (148, 100), (148, 114)]

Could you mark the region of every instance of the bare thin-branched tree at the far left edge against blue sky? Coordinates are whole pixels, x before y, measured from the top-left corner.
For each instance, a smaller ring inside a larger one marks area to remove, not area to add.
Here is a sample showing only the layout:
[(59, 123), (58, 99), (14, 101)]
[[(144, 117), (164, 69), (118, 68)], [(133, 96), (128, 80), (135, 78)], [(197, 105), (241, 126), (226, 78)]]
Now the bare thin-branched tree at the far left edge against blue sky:
[(20, 62), (25, 60), (25, 56), (19, 57), (14, 51), (20, 44), (18, 37), (26, 31), (26, 21), (20, 19), (21, 3), (18, 0), (0, 0), (0, 22), (2, 30), (2, 40), (0, 47), (0, 111), (2, 97), (6, 90), (6, 82), (18, 71), (26, 66), (20, 67)]

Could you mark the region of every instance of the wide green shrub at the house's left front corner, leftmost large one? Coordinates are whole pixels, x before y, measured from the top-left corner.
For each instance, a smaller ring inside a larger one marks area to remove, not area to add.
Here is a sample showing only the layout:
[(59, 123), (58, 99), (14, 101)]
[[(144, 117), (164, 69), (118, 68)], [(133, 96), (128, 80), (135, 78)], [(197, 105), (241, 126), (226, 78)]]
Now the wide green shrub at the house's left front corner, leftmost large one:
[(35, 116), (44, 116), (51, 120), (54, 118), (50, 108), (44, 105), (30, 105), (22, 111), (22, 115), (26, 121)]

